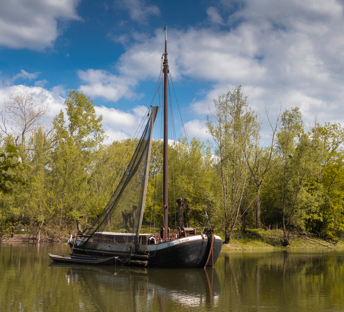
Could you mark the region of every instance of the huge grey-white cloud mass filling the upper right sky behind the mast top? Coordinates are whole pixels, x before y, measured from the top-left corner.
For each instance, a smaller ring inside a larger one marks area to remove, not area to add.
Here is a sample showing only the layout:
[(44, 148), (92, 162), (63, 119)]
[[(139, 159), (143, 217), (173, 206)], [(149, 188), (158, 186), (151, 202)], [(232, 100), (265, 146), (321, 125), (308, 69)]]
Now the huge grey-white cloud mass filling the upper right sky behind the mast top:
[[(246, 0), (236, 10), (231, 3), (221, 1), (207, 9), (209, 27), (168, 29), (172, 77), (211, 85), (203, 99), (190, 104), (200, 123), (190, 121), (189, 132), (192, 127), (202, 132), (212, 99), (236, 85), (243, 86), (252, 107), (262, 112), (263, 126), (264, 107), (274, 111), (280, 104), (282, 110), (299, 106), (306, 122), (318, 112), (320, 122), (343, 123), (338, 113), (344, 97), (343, 3)], [(213, 24), (221, 24), (221, 30)], [(161, 29), (151, 37), (135, 33), (133, 38), (136, 43), (127, 47), (117, 69), (123, 77), (156, 79)]]

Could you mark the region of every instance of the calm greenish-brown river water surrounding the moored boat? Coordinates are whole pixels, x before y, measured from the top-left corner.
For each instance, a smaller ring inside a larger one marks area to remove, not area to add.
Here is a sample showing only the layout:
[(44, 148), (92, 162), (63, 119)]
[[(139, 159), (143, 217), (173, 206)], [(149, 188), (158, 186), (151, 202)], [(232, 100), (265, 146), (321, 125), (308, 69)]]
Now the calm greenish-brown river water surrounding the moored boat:
[(222, 252), (214, 271), (53, 263), (0, 244), (0, 311), (344, 311), (344, 250)]

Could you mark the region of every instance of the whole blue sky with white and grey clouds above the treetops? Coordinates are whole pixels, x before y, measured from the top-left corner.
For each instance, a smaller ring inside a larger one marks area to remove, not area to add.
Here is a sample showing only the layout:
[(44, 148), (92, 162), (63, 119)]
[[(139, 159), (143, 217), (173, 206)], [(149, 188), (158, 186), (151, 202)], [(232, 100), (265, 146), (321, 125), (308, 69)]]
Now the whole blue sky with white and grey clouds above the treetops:
[[(275, 110), (343, 123), (343, 1), (0, 2), (0, 97), (30, 92), (53, 118), (70, 89), (94, 99), (109, 140), (132, 135), (152, 98), (168, 25), (185, 128), (207, 138), (213, 98), (242, 85), (268, 139)], [(144, 107), (145, 106), (145, 107)], [(181, 133), (180, 123), (176, 132)]]

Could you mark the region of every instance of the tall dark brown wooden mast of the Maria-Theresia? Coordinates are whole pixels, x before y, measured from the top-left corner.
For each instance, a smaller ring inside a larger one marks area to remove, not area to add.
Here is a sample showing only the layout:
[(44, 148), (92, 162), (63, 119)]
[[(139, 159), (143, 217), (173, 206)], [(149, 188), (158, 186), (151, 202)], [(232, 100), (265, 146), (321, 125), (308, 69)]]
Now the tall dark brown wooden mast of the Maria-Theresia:
[(165, 229), (164, 239), (168, 239), (168, 72), (169, 65), (167, 60), (167, 31), (166, 24), (165, 31), (165, 53), (163, 63), (164, 73), (164, 163), (163, 163), (163, 191), (162, 191), (162, 214), (163, 214), (163, 227)]

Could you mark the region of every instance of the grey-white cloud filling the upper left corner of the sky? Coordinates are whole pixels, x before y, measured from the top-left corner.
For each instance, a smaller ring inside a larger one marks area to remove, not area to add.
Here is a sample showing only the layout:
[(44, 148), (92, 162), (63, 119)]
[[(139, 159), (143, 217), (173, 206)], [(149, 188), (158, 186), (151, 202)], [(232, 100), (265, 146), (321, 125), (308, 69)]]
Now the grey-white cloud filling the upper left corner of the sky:
[(0, 1), (0, 46), (42, 50), (61, 32), (58, 21), (80, 20), (79, 0)]

